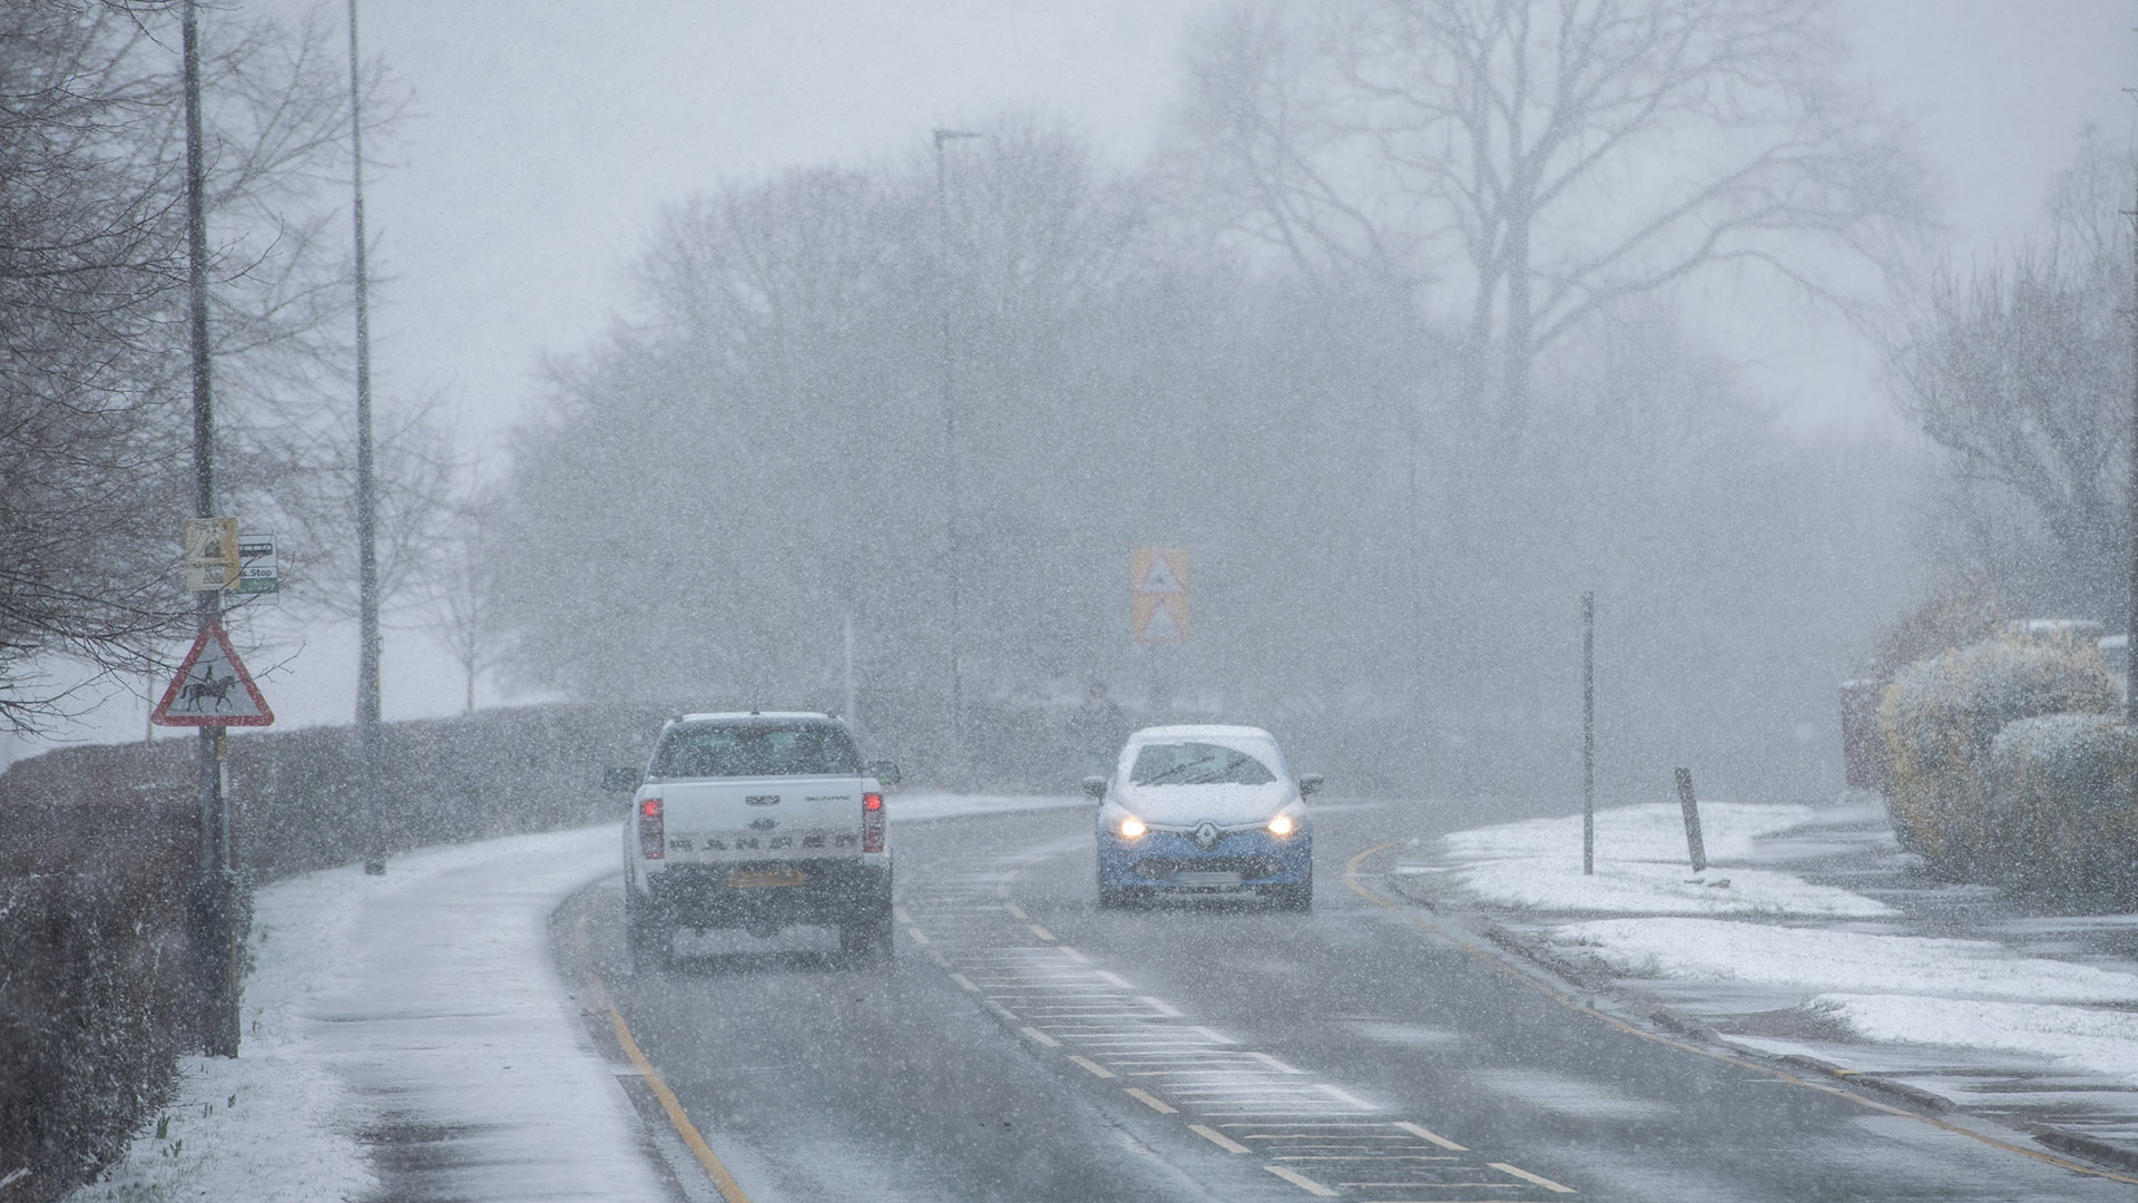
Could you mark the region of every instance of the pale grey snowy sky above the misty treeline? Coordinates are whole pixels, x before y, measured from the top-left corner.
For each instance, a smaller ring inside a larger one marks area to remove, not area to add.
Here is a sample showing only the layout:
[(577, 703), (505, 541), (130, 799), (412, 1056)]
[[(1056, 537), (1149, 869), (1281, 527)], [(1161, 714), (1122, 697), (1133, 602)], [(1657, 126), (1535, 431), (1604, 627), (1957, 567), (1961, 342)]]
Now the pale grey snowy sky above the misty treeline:
[[(257, 0), (301, 15), (301, 0)], [(661, 205), (723, 180), (915, 152), (936, 124), (1058, 116), (1114, 163), (1157, 141), (1180, 39), (1212, 0), (361, 0), (363, 49), (413, 90), (368, 208), (381, 394), (440, 394), (477, 441), (524, 411), (532, 366), (594, 336)], [(2129, 0), (1862, 0), (1858, 66), (1914, 116), (1958, 255), (2023, 235), (2082, 120), (2125, 139), (2138, 111)], [(338, 26), (342, 6), (323, 13)], [(1809, 420), (1877, 422), (1869, 357), (1807, 332), (1760, 383)], [(269, 683), (284, 724), (346, 721), (344, 629)], [(282, 644), (289, 649), (291, 644)], [(387, 642), (389, 717), (460, 689), (419, 631)], [(487, 698), (487, 696), (485, 696)], [(92, 730), (126, 738), (143, 706)]]

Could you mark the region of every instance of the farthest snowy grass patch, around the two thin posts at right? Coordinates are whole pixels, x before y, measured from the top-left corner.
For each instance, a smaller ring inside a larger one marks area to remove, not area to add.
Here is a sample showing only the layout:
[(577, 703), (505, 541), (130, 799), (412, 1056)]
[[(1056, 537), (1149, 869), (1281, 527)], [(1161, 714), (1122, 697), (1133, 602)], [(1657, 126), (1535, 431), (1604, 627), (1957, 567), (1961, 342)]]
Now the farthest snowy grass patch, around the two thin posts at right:
[[(1691, 880), (1674, 803), (1597, 811), (1595, 875), (1582, 875), (1582, 818), (1537, 818), (1447, 835), (1439, 886), (1473, 901), (1604, 914), (1890, 914), (1886, 903), (1792, 873), (1732, 865), (1753, 841), (1817, 818), (1811, 807), (1702, 803), (1708, 871)], [(1728, 886), (1715, 882), (1728, 880)]]

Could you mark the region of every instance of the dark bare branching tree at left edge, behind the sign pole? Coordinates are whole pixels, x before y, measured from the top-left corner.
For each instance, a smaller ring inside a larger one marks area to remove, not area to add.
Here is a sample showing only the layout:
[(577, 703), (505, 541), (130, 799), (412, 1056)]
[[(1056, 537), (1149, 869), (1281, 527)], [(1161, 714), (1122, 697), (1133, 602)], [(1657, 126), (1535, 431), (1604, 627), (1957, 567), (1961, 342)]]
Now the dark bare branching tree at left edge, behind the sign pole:
[[(0, 724), (154, 668), (190, 606), (184, 137), (175, 6), (0, 6)], [(203, 41), (224, 497), (280, 509), (319, 428), (340, 261), (304, 218), (346, 88), (316, 28)], [(391, 105), (387, 107), (391, 109)], [(88, 702), (83, 702), (88, 704)]]

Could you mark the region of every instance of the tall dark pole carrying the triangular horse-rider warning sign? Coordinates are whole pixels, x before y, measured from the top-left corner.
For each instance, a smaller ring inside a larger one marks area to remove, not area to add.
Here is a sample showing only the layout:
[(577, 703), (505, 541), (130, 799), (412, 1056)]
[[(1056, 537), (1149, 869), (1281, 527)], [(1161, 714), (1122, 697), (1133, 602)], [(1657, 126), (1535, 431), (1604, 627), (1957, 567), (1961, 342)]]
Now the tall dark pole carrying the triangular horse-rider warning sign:
[[(195, 0), (182, 21), (186, 60), (186, 257), (192, 342), (192, 512), (216, 516), (216, 400), (207, 349), (207, 156), (201, 137), (201, 36)], [(222, 593), (203, 589), (201, 631), (222, 619)], [(222, 728), (201, 728), (201, 854), (190, 897), (190, 940), (201, 991), (201, 1049), (237, 1055), (237, 931), (231, 871), (229, 801), (222, 794)]]

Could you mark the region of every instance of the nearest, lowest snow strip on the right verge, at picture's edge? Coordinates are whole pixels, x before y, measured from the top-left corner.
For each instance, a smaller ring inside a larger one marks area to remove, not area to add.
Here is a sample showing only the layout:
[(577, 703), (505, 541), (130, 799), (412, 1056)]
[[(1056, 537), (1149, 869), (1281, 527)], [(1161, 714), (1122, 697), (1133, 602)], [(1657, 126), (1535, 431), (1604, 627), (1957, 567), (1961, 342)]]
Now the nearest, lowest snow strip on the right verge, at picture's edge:
[(1890, 993), (1826, 993), (1811, 1006), (1869, 1040), (2029, 1053), (2138, 1083), (2138, 1015), (2129, 1010)]

